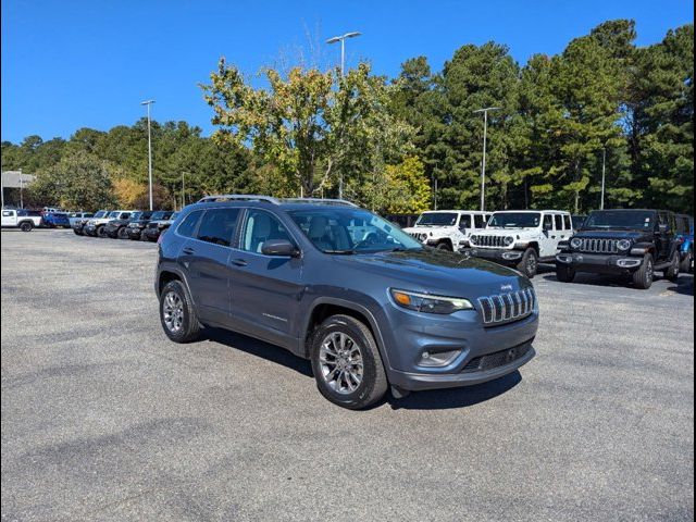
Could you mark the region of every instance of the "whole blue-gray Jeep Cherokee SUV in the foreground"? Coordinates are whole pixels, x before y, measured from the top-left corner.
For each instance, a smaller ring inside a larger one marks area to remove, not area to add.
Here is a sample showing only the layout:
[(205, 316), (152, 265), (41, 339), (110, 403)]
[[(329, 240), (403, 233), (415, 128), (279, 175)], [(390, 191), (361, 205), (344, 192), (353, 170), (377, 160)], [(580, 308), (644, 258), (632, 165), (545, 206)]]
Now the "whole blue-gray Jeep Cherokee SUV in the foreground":
[(209, 325), (279, 345), (345, 408), (389, 386), (402, 397), (483, 383), (535, 353), (526, 277), (423, 247), (346, 201), (203, 198), (160, 240), (154, 289), (170, 339)]

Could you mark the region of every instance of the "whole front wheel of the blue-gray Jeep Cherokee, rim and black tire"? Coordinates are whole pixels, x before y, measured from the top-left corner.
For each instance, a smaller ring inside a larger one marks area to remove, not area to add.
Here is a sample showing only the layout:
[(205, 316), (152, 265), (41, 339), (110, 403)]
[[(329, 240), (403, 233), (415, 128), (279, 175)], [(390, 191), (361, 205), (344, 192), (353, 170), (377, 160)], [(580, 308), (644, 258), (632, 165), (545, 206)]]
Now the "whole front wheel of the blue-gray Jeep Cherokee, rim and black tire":
[(386, 373), (372, 332), (350, 315), (332, 315), (316, 328), (310, 359), (319, 391), (343, 408), (366, 408), (387, 391)]

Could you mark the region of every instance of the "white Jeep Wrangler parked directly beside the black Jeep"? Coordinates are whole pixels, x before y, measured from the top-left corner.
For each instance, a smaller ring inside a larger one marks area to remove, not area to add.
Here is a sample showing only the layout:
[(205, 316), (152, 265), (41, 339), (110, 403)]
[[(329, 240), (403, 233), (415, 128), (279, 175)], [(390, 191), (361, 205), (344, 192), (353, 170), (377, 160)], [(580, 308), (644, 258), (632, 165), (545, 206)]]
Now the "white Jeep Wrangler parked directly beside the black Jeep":
[(514, 266), (534, 277), (538, 263), (555, 262), (558, 244), (573, 235), (573, 220), (559, 210), (494, 212), (485, 231), (469, 238), (472, 257)]

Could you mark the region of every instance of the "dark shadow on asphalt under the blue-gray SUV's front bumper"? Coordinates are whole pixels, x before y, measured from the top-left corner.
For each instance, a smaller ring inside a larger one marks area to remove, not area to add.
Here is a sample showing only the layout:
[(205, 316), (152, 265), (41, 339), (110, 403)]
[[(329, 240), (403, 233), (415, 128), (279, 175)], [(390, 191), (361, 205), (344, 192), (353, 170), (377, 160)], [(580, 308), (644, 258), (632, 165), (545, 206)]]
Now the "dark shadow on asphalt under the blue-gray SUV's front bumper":
[(395, 399), (391, 395), (387, 395), (386, 402), (389, 403), (393, 410), (447, 410), (451, 408), (467, 408), (494, 399), (511, 390), (521, 382), (522, 375), (519, 371), (514, 371), (504, 377), (474, 386), (414, 391), (403, 399)]

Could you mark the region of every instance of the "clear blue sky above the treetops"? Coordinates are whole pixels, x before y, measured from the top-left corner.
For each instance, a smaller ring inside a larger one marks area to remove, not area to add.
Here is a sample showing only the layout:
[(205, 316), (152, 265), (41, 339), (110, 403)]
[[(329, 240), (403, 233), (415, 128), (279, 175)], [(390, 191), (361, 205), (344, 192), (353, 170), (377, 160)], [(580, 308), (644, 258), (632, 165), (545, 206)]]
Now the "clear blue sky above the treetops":
[(148, 98), (157, 100), (154, 119), (186, 120), (209, 134), (211, 113), (197, 84), (223, 54), (250, 75), (281, 57), (296, 61), (300, 50), (326, 64), (338, 59), (338, 47), (323, 41), (360, 30), (348, 42), (348, 64), (368, 59), (375, 72), (394, 76), (408, 58), (424, 54), (439, 70), (458, 47), (488, 40), (508, 45), (524, 63), (620, 17), (634, 18), (638, 45), (649, 45), (693, 22), (694, 7), (686, 0), (2, 0), (2, 139), (130, 125)]

